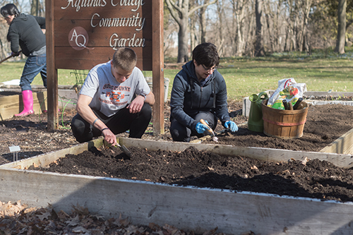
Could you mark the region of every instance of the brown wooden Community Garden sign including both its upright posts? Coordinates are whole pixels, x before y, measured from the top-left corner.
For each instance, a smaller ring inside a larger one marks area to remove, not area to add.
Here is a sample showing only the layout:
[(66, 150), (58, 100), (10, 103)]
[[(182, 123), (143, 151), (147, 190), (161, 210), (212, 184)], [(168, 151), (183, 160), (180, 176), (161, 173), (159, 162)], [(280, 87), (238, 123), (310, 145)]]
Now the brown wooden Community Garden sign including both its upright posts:
[(164, 132), (162, 0), (46, 0), (46, 20), (49, 129), (58, 128), (57, 69), (90, 70), (130, 47), (152, 71), (153, 133)]

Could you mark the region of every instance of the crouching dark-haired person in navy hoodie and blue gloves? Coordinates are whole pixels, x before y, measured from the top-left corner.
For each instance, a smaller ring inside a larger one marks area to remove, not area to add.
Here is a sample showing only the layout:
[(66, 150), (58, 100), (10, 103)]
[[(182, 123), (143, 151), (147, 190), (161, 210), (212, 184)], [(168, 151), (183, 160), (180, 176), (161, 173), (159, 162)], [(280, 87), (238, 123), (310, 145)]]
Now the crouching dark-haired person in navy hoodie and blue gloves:
[(205, 120), (213, 130), (220, 119), (222, 126), (238, 131), (230, 120), (227, 104), (227, 86), (217, 71), (220, 64), (217, 47), (209, 42), (193, 49), (193, 58), (174, 78), (170, 98), (170, 128), (174, 141), (190, 142), (191, 136), (208, 135)]

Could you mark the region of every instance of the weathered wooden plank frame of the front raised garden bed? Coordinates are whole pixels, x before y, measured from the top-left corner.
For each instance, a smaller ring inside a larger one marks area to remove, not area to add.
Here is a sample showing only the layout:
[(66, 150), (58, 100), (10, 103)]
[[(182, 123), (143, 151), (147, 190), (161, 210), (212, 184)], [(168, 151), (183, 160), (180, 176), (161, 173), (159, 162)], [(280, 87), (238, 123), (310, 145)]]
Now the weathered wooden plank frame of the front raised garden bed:
[[(271, 162), (319, 159), (346, 168), (353, 162), (351, 155), (323, 152), (155, 142), (130, 138), (120, 138), (119, 143), (126, 147), (177, 152), (195, 147), (217, 155), (238, 155)], [(255, 234), (351, 232), (349, 224), (353, 216), (353, 203), (249, 191), (236, 193), (232, 189), (170, 186), (150, 181), (112, 179), (110, 176), (104, 178), (25, 170), (31, 165), (45, 166), (66, 154), (76, 155), (92, 145), (101, 147), (102, 139), (2, 165), (0, 187), (6, 188), (6, 191), (0, 191), (0, 198), (22, 200), (23, 203), (39, 207), (46, 207), (49, 203), (56, 210), (64, 211), (70, 211), (71, 205), (82, 205), (91, 212), (99, 212), (106, 217), (122, 213), (124, 217), (130, 217), (138, 224), (171, 224), (186, 230), (196, 231), (199, 228), (200, 232), (214, 229), (215, 226), (226, 234), (241, 234), (250, 230)], [(290, 172), (292, 169), (288, 170)], [(335, 177), (339, 176), (336, 174)], [(337, 179), (332, 178), (332, 181)], [(349, 188), (349, 185), (343, 187)]]

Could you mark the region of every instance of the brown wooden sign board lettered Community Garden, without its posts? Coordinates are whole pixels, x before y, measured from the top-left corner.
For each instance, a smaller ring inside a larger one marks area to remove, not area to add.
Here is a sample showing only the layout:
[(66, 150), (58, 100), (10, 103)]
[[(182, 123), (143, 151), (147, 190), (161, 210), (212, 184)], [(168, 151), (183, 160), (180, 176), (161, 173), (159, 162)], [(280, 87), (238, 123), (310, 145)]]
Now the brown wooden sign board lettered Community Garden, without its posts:
[(138, 68), (152, 71), (152, 1), (56, 0), (55, 67), (90, 69), (130, 47)]

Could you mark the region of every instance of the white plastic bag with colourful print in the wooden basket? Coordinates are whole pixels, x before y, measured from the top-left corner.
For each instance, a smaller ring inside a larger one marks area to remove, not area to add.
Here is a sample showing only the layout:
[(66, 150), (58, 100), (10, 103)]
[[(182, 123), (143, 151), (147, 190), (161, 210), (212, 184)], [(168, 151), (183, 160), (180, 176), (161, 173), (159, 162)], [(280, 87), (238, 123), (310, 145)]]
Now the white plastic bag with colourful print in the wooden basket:
[(284, 78), (278, 81), (278, 88), (268, 99), (268, 107), (274, 109), (285, 109), (282, 100), (292, 102), (294, 105), (299, 97), (303, 97), (306, 92), (305, 83), (297, 83), (294, 78)]

